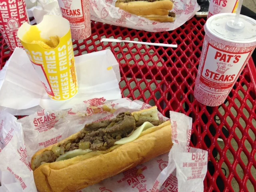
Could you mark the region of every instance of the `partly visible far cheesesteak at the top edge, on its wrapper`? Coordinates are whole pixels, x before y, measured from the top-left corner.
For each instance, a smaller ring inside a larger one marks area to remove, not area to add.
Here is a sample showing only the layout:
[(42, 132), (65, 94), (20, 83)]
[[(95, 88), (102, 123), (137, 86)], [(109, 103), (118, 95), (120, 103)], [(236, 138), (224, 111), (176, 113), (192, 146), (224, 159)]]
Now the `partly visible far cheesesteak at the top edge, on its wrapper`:
[(131, 14), (159, 22), (173, 22), (176, 14), (171, 12), (171, 0), (117, 0), (116, 7)]

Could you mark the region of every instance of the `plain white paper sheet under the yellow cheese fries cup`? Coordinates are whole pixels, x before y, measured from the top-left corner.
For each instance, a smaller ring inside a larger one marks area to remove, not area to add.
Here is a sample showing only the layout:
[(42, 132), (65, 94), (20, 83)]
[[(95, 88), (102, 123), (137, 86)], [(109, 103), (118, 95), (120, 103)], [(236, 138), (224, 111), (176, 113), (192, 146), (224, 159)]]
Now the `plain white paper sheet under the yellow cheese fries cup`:
[(29, 115), (38, 110), (66, 110), (84, 100), (121, 98), (119, 64), (110, 50), (75, 57), (78, 94), (67, 101), (50, 99), (26, 52), (16, 48), (0, 71), (0, 110)]

